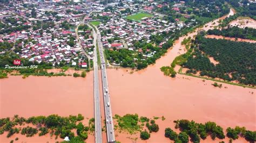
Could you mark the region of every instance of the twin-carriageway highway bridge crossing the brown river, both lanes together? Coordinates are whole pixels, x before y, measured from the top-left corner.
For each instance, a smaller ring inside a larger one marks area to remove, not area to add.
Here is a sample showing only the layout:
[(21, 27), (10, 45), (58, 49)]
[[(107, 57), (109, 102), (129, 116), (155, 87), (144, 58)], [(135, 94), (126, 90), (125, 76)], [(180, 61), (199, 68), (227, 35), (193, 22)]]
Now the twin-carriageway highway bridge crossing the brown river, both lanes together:
[[(87, 24), (89, 25), (89, 24)], [(89, 27), (92, 28), (91, 25)], [(105, 122), (106, 122), (106, 134), (107, 142), (112, 143), (116, 142), (114, 137), (114, 126), (112, 118), (112, 110), (110, 104), (110, 94), (109, 94), (109, 85), (107, 83), (107, 74), (106, 74), (106, 64), (103, 53), (103, 46), (100, 42), (100, 32), (98, 28), (96, 31), (92, 28), (93, 31), (93, 44), (95, 46), (93, 50), (93, 67), (94, 67), (94, 92), (95, 92), (95, 142), (102, 142), (102, 132), (100, 124), (100, 102), (99, 102), (99, 83), (98, 83), (98, 63), (97, 63), (97, 47), (99, 48), (100, 56), (100, 68), (102, 69), (102, 88), (103, 88), (103, 99), (104, 99), (104, 110), (105, 110)], [(97, 127), (96, 127), (97, 125)], [(100, 131), (99, 131), (100, 130)], [(100, 133), (99, 133), (100, 132)], [(100, 138), (100, 140), (99, 140)]]

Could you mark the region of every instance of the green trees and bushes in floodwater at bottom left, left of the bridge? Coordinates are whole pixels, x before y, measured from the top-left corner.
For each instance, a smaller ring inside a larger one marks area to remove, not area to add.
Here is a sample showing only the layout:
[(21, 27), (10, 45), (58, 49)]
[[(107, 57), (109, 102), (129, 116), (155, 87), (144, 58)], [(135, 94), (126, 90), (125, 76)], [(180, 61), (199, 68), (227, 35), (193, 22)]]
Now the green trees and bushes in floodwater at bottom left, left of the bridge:
[[(13, 118), (1, 118), (0, 119), (0, 134), (8, 132), (7, 137), (11, 137), (13, 134), (21, 133), (26, 137), (33, 137), (38, 134), (39, 136), (50, 133), (51, 137), (55, 135), (64, 139), (69, 137), (69, 139), (76, 140), (79, 142), (84, 142), (88, 137), (88, 132), (92, 130), (90, 127), (94, 126), (84, 126), (81, 122), (84, 117), (80, 114), (78, 116), (60, 117), (58, 115), (50, 116), (37, 116), (30, 118), (18, 117), (15, 115)], [(16, 127), (21, 125), (27, 125), (24, 127)], [(72, 130), (77, 131), (77, 137), (72, 132)], [(15, 140), (18, 140), (16, 138)]]

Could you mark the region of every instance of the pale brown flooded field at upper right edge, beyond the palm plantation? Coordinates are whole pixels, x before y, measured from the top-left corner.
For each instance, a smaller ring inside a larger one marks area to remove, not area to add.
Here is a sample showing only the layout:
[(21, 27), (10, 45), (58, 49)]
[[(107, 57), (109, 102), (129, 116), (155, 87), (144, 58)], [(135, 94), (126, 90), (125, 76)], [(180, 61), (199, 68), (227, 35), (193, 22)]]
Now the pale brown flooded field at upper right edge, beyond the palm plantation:
[(256, 20), (250, 17), (238, 17), (237, 19), (233, 20), (230, 25), (238, 26), (240, 28), (250, 27), (256, 28)]

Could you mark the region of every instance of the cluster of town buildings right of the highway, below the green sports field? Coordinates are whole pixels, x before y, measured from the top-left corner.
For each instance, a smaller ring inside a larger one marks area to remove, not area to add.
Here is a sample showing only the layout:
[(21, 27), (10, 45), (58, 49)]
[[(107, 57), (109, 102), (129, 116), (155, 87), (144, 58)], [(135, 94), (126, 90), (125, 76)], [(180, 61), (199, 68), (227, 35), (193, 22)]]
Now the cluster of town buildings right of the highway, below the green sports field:
[[(132, 5), (134, 6), (134, 5)], [(130, 7), (130, 9), (133, 9), (133, 7)], [(142, 9), (148, 9), (148, 8), (154, 8), (154, 7), (161, 7), (162, 5), (156, 5), (156, 6), (142, 6)], [(176, 8), (178, 9), (178, 8)], [(152, 9), (151, 9), (152, 10)], [(177, 30), (180, 30), (183, 27), (191, 27), (191, 23), (185, 24), (184, 22), (181, 22), (179, 19), (176, 19), (176, 22), (168, 22), (167, 20), (163, 20), (163, 16), (161, 16), (159, 13), (152, 12), (147, 10), (147, 12), (150, 12), (152, 14), (152, 17), (144, 17), (141, 20), (127, 20), (126, 16), (129, 14), (126, 14), (125, 16), (122, 15), (120, 17), (119, 12), (112, 12), (111, 15), (109, 15), (110, 19), (104, 23), (99, 25), (99, 30), (101, 32), (105, 32), (106, 34), (102, 37), (103, 45), (106, 48), (129, 48), (130, 50), (134, 49), (134, 42), (139, 40), (146, 40), (146, 42), (152, 42), (150, 40), (151, 35), (159, 34), (162, 32), (174, 32)], [(145, 11), (140, 11), (145, 12)], [(140, 13), (137, 11), (137, 13)], [(103, 12), (99, 12), (98, 15), (104, 15)], [(132, 15), (136, 15), (137, 13), (133, 13)], [(110, 31), (110, 33), (109, 33)], [(118, 37), (118, 38), (117, 38)], [(109, 39), (122, 39), (122, 40), (114, 40), (110, 42)], [(164, 44), (164, 42), (168, 38), (166, 37), (165, 40), (160, 43), (158, 46), (161, 47), (161, 45)]]

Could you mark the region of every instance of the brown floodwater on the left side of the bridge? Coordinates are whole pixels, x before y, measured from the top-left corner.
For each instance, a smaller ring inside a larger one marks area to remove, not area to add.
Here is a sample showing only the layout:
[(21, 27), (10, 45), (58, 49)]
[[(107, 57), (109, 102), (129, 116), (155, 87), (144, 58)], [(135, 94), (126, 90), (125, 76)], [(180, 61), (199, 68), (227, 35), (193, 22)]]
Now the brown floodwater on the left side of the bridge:
[[(85, 118), (93, 117), (93, 73), (87, 73), (85, 78), (61, 76), (9, 76), (0, 80), (0, 118), (31, 116), (59, 116), (78, 115)], [(84, 120), (88, 124), (88, 120)], [(50, 135), (38, 138), (26, 138), (24, 135), (15, 134), (6, 138), (6, 134), (0, 135), (0, 142), (10, 142), (16, 137), (19, 141), (26, 142), (55, 142)], [(93, 141), (93, 137), (89, 138)], [(57, 141), (57, 140), (56, 140)], [(58, 139), (62, 141), (62, 139)]]

